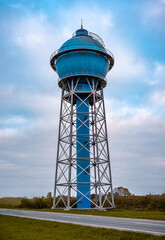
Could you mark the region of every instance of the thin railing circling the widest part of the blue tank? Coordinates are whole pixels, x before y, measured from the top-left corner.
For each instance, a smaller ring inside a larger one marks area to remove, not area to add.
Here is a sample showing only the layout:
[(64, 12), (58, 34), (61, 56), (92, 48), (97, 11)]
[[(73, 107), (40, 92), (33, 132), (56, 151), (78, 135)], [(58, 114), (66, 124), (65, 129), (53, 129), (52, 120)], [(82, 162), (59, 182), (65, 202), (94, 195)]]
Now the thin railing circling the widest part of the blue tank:
[(102, 52), (102, 53), (106, 53), (108, 55), (110, 55), (110, 57), (112, 59), (114, 59), (114, 56), (113, 54), (108, 50), (108, 49), (105, 49), (105, 48), (102, 48), (102, 47), (99, 47), (99, 46), (96, 46), (96, 45), (91, 45), (91, 44), (76, 44), (76, 45), (68, 45), (68, 46), (65, 46), (65, 47), (61, 47), (59, 49), (57, 49), (54, 53), (52, 53), (52, 55), (50, 56), (50, 60), (52, 58), (54, 58), (57, 54), (62, 54), (63, 52), (67, 52), (67, 51), (72, 51), (72, 50), (94, 50), (94, 51), (99, 51), (99, 52)]

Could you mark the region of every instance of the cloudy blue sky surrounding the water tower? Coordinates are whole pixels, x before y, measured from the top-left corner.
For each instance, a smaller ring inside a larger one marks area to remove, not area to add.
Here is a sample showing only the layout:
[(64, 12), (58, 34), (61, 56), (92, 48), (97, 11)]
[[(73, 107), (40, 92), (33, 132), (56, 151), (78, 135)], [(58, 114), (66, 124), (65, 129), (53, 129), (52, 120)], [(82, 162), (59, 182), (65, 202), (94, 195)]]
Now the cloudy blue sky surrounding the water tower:
[(115, 57), (104, 89), (113, 186), (165, 192), (165, 0), (0, 0), (0, 197), (53, 192), (50, 56), (81, 18)]

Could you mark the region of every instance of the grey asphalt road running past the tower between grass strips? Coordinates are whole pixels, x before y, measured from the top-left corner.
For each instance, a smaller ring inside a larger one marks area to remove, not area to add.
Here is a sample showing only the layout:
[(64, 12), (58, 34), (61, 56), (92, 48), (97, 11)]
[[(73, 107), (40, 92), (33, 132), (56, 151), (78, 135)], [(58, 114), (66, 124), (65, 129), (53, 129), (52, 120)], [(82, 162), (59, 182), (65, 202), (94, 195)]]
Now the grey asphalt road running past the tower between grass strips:
[(102, 217), (57, 212), (39, 212), (4, 208), (0, 208), (0, 214), (56, 222), (73, 223), (92, 227), (102, 227), (109, 229), (151, 233), (155, 235), (165, 235), (165, 221)]

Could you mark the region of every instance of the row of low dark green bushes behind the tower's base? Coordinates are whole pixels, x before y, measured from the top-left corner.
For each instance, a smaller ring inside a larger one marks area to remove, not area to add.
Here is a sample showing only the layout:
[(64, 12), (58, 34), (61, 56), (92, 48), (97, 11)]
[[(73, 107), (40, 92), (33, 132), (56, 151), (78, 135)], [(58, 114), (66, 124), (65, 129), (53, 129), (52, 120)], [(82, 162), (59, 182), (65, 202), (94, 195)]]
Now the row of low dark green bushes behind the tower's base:
[[(67, 196), (63, 196), (67, 198)], [(130, 210), (157, 210), (165, 211), (165, 194), (161, 195), (146, 195), (146, 196), (115, 196), (115, 207), (118, 209)], [(94, 199), (93, 199), (94, 201)], [(76, 202), (76, 198), (71, 198), (71, 204)], [(21, 200), (20, 208), (51, 208), (53, 205), (52, 196), (34, 197), (32, 199), (23, 198)], [(60, 200), (58, 207), (64, 207), (63, 201)], [(76, 205), (74, 206), (76, 207)]]

